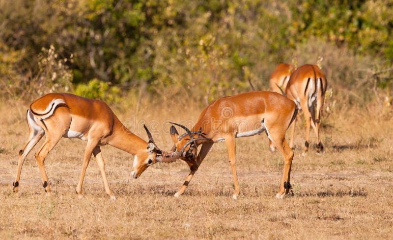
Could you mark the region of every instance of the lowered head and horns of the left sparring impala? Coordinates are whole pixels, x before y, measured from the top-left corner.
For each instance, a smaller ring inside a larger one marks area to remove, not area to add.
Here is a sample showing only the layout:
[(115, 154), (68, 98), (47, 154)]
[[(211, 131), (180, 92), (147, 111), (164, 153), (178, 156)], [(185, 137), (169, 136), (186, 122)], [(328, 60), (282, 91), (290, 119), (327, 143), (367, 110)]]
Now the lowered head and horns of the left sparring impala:
[(133, 168), (131, 170), (131, 175), (134, 178), (138, 178), (150, 165), (155, 163), (171, 163), (175, 162), (179, 158), (178, 152), (166, 152), (161, 150), (155, 144), (149, 129), (147, 129), (145, 125), (143, 125), (143, 127), (146, 130), (149, 142), (146, 145), (146, 149), (140, 149), (140, 151), (135, 155)]

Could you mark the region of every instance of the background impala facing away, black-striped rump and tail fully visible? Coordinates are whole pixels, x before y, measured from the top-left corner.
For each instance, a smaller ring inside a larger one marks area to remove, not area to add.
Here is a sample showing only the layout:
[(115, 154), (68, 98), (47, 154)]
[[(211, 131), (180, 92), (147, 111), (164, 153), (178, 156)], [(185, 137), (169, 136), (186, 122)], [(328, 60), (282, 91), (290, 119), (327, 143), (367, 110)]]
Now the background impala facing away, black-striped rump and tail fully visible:
[[(286, 86), (286, 96), (295, 101), (300, 110), (303, 110), (306, 118), (306, 142), (303, 153), (309, 149), (310, 125), (314, 129), (317, 138), (317, 152), (323, 152), (323, 145), (319, 138), (320, 117), (328, 86), (325, 74), (317, 65), (306, 64), (292, 73)], [(296, 120), (292, 125), (292, 137), (289, 143), (293, 147)]]

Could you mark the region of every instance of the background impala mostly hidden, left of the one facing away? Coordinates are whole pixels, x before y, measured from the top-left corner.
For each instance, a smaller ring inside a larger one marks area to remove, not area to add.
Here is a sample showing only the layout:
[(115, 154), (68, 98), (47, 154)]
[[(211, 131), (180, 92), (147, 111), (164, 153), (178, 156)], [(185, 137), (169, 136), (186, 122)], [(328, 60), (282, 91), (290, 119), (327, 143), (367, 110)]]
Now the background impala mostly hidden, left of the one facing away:
[(270, 75), (270, 88), (273, 92), (285, 95), (291, 73), (295, 70), (292, 64), (280, 63)]

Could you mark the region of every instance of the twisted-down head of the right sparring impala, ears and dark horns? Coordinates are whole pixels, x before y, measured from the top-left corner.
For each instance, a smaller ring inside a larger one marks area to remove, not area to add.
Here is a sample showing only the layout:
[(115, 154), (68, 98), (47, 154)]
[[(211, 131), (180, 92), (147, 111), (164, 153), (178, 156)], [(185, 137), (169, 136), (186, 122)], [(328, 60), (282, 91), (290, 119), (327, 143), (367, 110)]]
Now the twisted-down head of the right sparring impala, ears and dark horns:
[(202, 142), (212, 141), (206, 138), (207, 135), (205, 133), (202, 133), (202, 128), (197, 132), (192, 132), (183, 125), (174, 122), (171, 123), (186, 130), (186, 133), (179, 135), (174, 126), (170, 127), (170, 137), (174, 143), (172, 151), (180, 151), (182, 153), (180, 154), (180, 158), (183, 160), (195, 160), (197, 158), (198, 145)]

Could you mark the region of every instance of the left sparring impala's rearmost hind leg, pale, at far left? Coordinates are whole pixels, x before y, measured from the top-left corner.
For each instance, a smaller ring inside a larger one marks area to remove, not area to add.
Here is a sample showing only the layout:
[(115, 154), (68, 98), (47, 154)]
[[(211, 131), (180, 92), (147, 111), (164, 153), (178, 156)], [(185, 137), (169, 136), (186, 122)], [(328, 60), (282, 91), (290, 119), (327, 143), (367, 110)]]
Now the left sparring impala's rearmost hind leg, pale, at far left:
[[(30, 128), (31, 129), (31, 128)], [(34, 148), (34, 146), (41, 140), (44, 136), (45, 131), (44, 129), (37, 129), (36, 131), (30, 130), (30, 137), (25, 145), (25, 147), (19, 151), (19, 159), (18, 159), (18, 167), (16, 171), (15, 181), (13, 182), (14, 192), (17, 193), (19, 189), (19, 180), (21, 177), (22, 166), (25, 163), (26, 157), (28, 153)]]

